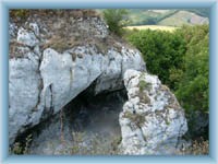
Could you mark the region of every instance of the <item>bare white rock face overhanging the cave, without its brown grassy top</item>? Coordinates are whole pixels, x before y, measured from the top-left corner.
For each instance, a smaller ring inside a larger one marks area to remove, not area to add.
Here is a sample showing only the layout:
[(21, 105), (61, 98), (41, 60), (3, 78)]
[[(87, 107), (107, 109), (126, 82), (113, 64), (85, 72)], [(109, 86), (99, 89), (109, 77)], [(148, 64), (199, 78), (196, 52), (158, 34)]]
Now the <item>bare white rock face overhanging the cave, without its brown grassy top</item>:
[(19, 30), (17, 42), (33, 50), (27, 48), (21, 51), (23, 57), (9, 61), (10, 143), (19, 133), (58, 113), (95, 81), (95, 94), (113, 91), (123, 87), (128, 68), (145, 69), (140, 52), (128, 47), (119, 52), (111, 46), (106, 54), (95, 45), (75, 46), (62, 54), (52, 48), (40, 51), (35, 36), (39, 30), (35, 23), (29, 26), (29, 32)]

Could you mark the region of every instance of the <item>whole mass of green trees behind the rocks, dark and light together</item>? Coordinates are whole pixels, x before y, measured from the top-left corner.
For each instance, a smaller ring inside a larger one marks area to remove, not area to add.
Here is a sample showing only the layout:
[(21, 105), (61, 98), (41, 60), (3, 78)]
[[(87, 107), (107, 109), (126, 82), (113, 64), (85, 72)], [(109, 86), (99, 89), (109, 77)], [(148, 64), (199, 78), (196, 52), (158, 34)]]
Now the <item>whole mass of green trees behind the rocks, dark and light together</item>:
[[(173, 33), (132, 31), (125, 38), (142, 51), (147, 70), (175, 93), (187, 118), (195, 112), (208, 113), (208, 25), (183, 26)], [(191, 119), (190, 130), (196, 121)]]

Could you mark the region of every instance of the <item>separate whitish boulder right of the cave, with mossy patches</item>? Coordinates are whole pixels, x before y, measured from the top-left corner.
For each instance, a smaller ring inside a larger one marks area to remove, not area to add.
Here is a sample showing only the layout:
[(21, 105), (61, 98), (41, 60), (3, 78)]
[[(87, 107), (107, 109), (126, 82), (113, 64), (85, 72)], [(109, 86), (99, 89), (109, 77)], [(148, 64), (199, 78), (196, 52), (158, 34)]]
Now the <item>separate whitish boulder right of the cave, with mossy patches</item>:
[(173, 154), (187, 131), (186, 119), (174, 95), (156, 75), (128, 70), (129, 101), (120, 114), (121, 151), (124, 154)]

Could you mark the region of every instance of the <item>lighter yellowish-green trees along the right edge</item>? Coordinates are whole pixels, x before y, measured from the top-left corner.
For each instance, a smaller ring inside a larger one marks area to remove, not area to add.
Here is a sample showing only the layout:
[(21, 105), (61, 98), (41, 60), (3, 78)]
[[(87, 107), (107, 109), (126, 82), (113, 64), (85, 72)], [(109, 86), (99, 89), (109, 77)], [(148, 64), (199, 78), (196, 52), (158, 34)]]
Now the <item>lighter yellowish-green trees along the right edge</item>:
[(186, 42), (184, 73), (175, 95), (186, 110), (208, 112), (209, 31), (207, 25), (183, 27)]

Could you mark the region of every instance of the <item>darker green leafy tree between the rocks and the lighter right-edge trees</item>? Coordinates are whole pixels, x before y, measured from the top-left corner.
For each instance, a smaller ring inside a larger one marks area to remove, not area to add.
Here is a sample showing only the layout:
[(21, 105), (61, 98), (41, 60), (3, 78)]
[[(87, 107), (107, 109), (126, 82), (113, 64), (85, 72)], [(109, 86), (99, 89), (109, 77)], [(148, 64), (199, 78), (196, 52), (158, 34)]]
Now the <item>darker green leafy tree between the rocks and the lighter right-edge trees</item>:
[(181, 35), (160, 31), (134, 31), (126, 39), (143, 54), (147, 69), (158, 74), (162, 83), (174, 90), (174, 81), (170, 73), (183, 68), (185, 43)]

